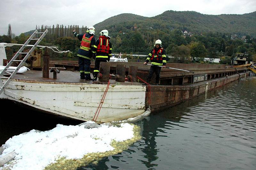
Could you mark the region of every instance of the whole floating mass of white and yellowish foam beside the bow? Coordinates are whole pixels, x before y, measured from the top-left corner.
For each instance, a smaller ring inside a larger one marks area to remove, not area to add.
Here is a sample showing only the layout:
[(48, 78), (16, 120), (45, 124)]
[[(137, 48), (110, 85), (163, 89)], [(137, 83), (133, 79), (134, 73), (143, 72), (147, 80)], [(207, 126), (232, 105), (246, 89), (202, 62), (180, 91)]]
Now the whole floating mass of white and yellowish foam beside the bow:
[[(129, 123), (117, 125), (64, 126), (49, 131), (31, 130), (13, 136), (3, 145), (0, 158), (12, 151), (14, 160), (4, 169), (76, 169), (115, 155), (141, 138), (140, 128)], [(93, 128), (89, 128), (93, 127)]]

